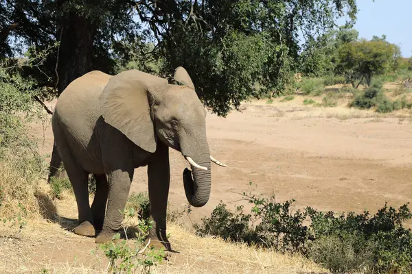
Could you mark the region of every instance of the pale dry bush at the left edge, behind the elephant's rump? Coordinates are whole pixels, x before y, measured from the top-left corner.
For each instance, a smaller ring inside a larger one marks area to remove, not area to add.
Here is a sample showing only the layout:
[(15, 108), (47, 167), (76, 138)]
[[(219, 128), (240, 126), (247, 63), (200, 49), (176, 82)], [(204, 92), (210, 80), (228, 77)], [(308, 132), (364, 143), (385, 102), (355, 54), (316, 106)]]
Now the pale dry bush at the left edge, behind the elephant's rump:
[(27, 124), (43, 117), (33, 100), (41, 89), (22, 79), (19, 69), (0, 67), (0, 216), (21, 227), (25, 216), (40, 216), (49, 203), (41, 185), (47, 166), (27, 135)]

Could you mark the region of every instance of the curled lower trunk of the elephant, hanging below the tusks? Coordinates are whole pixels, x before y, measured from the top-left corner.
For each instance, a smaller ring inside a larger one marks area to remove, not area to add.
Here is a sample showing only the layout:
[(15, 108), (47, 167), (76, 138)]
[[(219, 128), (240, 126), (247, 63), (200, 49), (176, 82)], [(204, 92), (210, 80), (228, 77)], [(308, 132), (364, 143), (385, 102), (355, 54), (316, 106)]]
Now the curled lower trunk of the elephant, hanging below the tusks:
[(198, 208), (205, 206), (210, 196), (211, 176), (209, 151), (196, 153), (196, 155), (193, 156), (193, 160), (196, 164), (207, 168), (207, 170), (198, 169), (198, 167), (191, 164), (192, 171), (189, 169), (183, 171), (183, 185), (185, 187), (187, 201), (189, 201), (191, 206)]

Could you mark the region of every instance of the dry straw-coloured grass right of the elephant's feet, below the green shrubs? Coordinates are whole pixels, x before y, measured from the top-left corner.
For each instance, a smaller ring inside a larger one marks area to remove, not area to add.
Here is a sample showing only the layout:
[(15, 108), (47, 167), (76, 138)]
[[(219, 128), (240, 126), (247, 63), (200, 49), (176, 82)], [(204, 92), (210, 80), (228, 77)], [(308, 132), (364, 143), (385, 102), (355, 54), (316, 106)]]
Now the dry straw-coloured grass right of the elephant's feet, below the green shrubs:
[(172, 254), (168, 264), (155, 273), (321, 273), (317, 264), (297, 255), (282, 255), (220, 238), (199, 238), (187, 229), (170, 224)]

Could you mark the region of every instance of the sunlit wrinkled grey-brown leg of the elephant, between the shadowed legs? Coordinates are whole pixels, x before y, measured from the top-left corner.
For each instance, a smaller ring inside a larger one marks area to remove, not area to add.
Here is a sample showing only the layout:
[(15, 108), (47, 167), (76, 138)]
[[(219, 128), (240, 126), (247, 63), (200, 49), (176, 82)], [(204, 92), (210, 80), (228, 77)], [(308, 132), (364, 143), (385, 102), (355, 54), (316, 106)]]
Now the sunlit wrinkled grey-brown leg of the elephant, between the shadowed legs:
[[(123, 212), (128, 198), (130, 184), (133, 180), (133, 167), (117, 169), (108, 174), (108, 200), (106, 216), (104, 217), (102, 232), (95, 242), (103, 243), (112, 240), (113, 236), (122, 227)], [(119, 212), (120, 210), (120, 212)]]

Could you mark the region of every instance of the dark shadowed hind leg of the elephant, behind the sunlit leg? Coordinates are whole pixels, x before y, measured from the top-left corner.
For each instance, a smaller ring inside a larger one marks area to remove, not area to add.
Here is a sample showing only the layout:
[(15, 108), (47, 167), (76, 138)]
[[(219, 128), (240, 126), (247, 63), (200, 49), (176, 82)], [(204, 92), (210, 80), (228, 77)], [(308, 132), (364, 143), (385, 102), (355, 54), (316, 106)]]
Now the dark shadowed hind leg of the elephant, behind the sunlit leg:
[(94, 227), (96, 234), (103, 228), (104, 214), (106, 213), (106, 204), (108, 197), (108, 184), (106, 174), (94, 175), (96, 180), (96, 192), (91, 204)]

